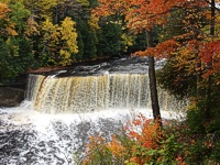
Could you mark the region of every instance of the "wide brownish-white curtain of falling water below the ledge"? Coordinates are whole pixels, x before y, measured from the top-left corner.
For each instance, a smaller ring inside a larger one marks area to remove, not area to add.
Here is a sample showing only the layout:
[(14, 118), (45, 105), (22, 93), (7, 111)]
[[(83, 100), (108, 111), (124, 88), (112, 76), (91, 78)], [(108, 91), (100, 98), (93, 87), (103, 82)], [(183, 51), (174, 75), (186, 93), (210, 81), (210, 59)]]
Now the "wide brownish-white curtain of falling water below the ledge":
[[(32, 101), (33, 109), (46, 113), (151, 108), (148, 77), (141, 74), (30, 75), (26, 99)], [(186, 106), (160, 88), (158, 100), (163, 110), (179, 111)]]

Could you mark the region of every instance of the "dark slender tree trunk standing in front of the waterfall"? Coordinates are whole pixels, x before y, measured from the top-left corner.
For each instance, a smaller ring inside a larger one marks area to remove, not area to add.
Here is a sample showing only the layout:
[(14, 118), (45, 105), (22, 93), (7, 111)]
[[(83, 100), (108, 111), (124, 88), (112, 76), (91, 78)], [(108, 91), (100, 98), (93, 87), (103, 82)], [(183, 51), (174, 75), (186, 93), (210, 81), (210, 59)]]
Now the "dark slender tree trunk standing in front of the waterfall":
[[(147, 37), (147, 47), (152, 47), (153, 40), (152, 40), (151, 31), (146, 31), (146, 37)], [(148, 56), (148, 78), (150, 78), (150, 90), (151, 90), (153, 117), (154, 117), (154, 120), (157, 119), (161, 122), (161, 111), (160, 111), (157, 89), (156, 89), (155, 64), (154, 64), (154, 57), (152, 56)]]

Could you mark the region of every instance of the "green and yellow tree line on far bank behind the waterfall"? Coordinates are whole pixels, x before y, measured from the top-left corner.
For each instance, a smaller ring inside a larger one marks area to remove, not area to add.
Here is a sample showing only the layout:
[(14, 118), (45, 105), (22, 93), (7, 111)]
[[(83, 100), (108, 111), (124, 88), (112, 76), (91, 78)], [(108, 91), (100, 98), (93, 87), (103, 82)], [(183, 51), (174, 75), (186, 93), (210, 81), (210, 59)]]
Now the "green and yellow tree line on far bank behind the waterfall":
[(41, 66), (66, 66), (144, 50), (121, 15), (98, 20), (97, 0), (0, 0), (0, 82)]

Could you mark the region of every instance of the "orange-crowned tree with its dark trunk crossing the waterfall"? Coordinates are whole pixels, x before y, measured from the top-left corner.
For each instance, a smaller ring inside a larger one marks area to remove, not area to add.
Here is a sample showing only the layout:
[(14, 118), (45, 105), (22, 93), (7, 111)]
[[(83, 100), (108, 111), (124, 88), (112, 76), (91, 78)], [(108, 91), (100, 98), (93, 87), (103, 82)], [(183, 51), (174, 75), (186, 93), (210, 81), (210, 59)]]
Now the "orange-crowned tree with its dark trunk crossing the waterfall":
[[(135, 33), (146, 32), (147, 47), (153, 46), (152, 29), (167, 22), (167, 16), (175, 7), (182, 7), (185, 0), (99, 0), (95, 9), (97, 16), (121, 14), (125, 16), (128, 28)], [(142, 53), (143, 55), (143, 53)], [(148, 54), (144, 54), (145, 56)], [(148, 77), (154, 119), (161, 119), (157, 100), (154, 57), (148, 56)]]

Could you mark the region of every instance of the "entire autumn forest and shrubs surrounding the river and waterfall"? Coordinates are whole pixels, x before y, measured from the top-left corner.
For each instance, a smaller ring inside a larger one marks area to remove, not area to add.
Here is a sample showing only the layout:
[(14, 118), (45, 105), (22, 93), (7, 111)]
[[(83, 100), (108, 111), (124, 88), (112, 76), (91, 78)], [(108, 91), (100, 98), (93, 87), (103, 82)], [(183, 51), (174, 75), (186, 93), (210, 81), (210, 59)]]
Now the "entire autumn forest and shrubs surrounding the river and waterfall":
[[(0, 0), (0, 50), (1, 86), (42, 66), (148, 57), (154, 120), (91, 136), (82, 164), (220, 163), (219, 0)], [(157, 86), (189, 100), (185, 120), (162, 122)]]

